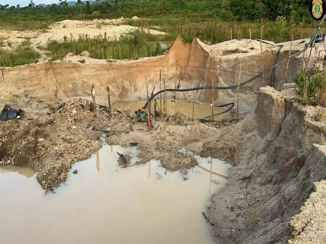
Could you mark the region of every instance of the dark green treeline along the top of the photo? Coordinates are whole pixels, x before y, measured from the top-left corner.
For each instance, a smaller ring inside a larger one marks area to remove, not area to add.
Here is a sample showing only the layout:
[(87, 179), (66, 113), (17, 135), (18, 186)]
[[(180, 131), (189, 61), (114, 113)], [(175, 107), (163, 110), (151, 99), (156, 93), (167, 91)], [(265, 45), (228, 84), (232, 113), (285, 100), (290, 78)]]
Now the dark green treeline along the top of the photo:
[(68, 6), (66, 0), (47, 7), (0, 5), (0, 17), (74, 19), (84, 13), (86, 18), (171, 16), (215, 18), (221, 21), (275, 20), (286, 17), (295, 23), (311, 21), (308, 0), (112, 0), (86, 4), (78, 0)]

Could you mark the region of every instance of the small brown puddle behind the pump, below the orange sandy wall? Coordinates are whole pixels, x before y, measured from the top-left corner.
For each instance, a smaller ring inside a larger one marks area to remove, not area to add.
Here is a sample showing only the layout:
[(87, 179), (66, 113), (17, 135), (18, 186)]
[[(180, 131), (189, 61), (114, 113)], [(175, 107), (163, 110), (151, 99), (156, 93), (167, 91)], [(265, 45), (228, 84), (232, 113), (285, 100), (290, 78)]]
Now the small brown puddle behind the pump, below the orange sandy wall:
[[(172, 102), (173, 101), (173, 102)], [(132, 102), (122, 102), (118, 101), (113, 104), (114, 107), (121, 110), (130, 110), (131, 114), (134, 114), (134, 111), (142, 108), (145, 105), (146, 101), (132, 101)], [(158, 106), (160, 106), (159, 99), (157, 100)], [(163, 107), (163, 100), (162, 100)], [(173, 99), (169, 99), (167, 103), (168, 114), (174, 115), (176, 112), (180, 112), (188, 117), (193, 117), (193, 103), (191, 100), (176, 99), (175, 102)], [(228, 107), (229, 108), (229, 107)], [(225, 111), (226, 108), (214, 107), (214, 114)], [(210, 103), (198, 102), (195, 103), (194, 118), (204, 118), (212, 114), (212, 107)], [(219, 116), (214, 116), (215, 120), (218, 119), (231, 119), (232, 116), (229, 112), (221, 114)]]

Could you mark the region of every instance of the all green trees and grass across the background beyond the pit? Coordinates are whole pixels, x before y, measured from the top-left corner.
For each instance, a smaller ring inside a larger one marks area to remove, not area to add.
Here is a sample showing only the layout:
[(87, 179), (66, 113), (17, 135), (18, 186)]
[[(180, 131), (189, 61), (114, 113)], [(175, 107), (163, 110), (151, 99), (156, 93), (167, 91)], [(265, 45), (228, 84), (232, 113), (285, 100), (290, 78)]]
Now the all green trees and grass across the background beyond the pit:
[[(121, 37), (120, 41), (109, 40), (105, 36), (93, 39), (80, 37), (78, 40), (65, 38), (63, 43), (52, 42), (47, 47), (52, 60), (68, 52), (78, 54), (85, 50), (94, 58), (134, 59), (162, 54), (165, 50), (158, 42), (172, 42), (178, 35), (187, 42), (197, 37), (202, 41), (218, 43), (230, 40), (231, 33), (232, 38), (249, 38), (251, 32), (252, 38), (259, 39), (263, 25), (263, 39), (276, 43), (289, 41), (292, 29), (294, 39), (307, 38), (316, 25), (309, 16), (309, 4), (308, 0), (112, 0), (95, 4), (83, 4), (78, 0), (75, 6), (68, 6), (67, 0), (59, 0), (59, 4), (43, 8), (31, 1), (28, 7), (0, 5), (0, 28), (45, 31), (48, 25), (64, 19), (82, 20), (85, 17), (93, 20), (123, 16), (125, 24), (168, 33), (153, 36), (135, 32)], [(130, 19), (133, 16), (141, 19)], [(97, 27), (101, 28), (103, 24), (98, 23)], [(322, 32), (325, 31), (323, 28)], [(4, 41), (0, 39), (2, 45)], [(30, 40), (22, 45), (29, 46)], [(28, 52), (31, 50), (20, 48), (12, 55)], [(2, 60), (7, 60), (9, 54), (2, 52), (0, 55)], [(32, 54), (25, 56), (27, 59), (18, 63), (35, 62)]]

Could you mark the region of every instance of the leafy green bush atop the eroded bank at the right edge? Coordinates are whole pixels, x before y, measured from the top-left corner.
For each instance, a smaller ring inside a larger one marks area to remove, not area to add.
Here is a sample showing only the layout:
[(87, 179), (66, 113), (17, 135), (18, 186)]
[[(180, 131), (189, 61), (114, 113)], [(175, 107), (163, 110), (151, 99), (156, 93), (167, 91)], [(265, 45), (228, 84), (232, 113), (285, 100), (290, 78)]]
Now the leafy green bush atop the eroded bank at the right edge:
[(303, 97), (305, 104), (325, 105), (326, 102), (326, 79), (325, 71), (318, 67), (308, 74), (297, 72), (293, 81), (298, 95)]

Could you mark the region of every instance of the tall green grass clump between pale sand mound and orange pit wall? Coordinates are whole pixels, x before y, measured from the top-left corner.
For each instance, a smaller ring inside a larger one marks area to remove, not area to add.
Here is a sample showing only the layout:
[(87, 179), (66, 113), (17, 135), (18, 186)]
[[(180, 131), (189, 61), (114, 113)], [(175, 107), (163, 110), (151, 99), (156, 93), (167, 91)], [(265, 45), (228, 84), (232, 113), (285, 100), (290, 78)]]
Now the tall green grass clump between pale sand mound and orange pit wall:
[(52, 60), (62, 58), (68, 52), (79, 54), (85, 50), (98, 59), (137, 59), (161, 55), (165, 51), (159, 43), (153, 45), (148, 42), (156, 38), (143, 31), (135, 31), (114, 40), (106, 36), (89, 38), (80, 35), (78, 40), (68, 41), (68, 38), (65, 38), (62, 43), (53, 41), (48, 44), (47, 49), (51, 51)]

